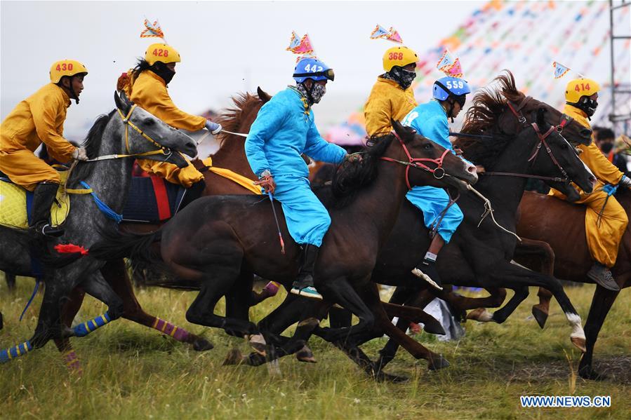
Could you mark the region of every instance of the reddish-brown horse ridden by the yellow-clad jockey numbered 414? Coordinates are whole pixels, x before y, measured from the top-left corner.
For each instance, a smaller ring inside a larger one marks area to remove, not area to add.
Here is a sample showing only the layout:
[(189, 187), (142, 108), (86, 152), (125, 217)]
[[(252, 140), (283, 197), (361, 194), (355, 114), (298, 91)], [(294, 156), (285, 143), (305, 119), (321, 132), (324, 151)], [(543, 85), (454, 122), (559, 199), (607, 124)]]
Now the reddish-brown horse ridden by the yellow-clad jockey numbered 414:
[[(621, 190), (616, 198), (627, 212), (627, 216), (630, 215), (631, 191)], [(543, 194), (526, 193), (519, 209), (521, 217), (517, 224), (517, 231), (520, 235), (550, 244), (554, 250), (555, 276), (578, 283), (594, 283), (587, 278), (592, 257), (585, 240), (585, 207), (583, 205), (573, 205)], [(545, 212), (545, 217), (538, 217), (542, 212)], [(533, 268), (537, 268), (536, 264), (538, 264), (537, 259), (529, 257), (517, 258), (517, 261)], [(631, 229), (629, 226), (623, 235), (618, 259), (611, 272), (620, 289), (631, 286)], [(618, 293), (620, 292), (612, 292), (599, 285), (596, 286), (590, 313), (585, 322), (587, 351), (578, 366), (580, 376), (585, 379), (599, 379), (598, 372), (592, 367), (594, 346)], [(539, 310), (547, 316), (550, 304), (549, 292), (540, 290), (539, 297), (540, 304), (536, 308), (533, 307), (533, 313)], [(545, 318), (543, 318), (543, 323), (545, 323)]]

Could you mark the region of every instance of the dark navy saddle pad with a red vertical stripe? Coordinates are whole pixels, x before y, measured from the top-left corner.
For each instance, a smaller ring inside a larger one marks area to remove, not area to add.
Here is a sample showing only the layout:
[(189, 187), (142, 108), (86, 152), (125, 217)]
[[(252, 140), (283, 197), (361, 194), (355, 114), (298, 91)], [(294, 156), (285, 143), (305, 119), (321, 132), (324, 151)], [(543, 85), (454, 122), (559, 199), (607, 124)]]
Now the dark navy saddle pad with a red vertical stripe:
[(161, 177), (132, 177), (124, 222), (157, 223), (175, 215), (186, 189)]

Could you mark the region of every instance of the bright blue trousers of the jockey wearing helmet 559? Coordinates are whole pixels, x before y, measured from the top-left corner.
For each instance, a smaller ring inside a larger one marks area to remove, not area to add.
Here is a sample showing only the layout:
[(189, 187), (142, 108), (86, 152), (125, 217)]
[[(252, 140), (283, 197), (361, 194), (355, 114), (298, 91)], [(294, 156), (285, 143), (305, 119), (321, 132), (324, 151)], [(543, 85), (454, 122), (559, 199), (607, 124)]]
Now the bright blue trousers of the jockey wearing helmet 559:
[[(440, 213), (449, 204), (449, 195), (444, 189), (436, 187), (413, 187), (406, 198), (423, 211), (423, 221), (427, 228), (432, 229), (437, 223)], [(438, 226), (438, 233), (446, 243), (451, 241), (453, 232), (456, 231), (460, 222), (463, 221), (463, 212), (456, 203), (453, 203), (445, 213)]]

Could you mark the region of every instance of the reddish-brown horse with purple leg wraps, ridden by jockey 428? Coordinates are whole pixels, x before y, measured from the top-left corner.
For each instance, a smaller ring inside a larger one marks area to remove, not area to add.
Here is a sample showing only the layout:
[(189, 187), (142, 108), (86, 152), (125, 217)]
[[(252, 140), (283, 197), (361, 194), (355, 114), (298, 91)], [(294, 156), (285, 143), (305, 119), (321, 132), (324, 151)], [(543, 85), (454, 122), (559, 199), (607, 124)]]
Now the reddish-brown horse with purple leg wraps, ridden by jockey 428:
[[(222, 125), (224, 130), (231, 131), (233, 133), (248, 133), (251, 124), (258, 114), (260, 107), (270, 100), (270, 95), (258, 88), (258, 95), (251, 95), (245, 93), (233, 97), (235, 107), (227, 109), (223, 112), (216, 121)], [(248, 162), (245, 158), (244, 151), (244, 138), (232, 135), (232, 134), (220, 134), (218, 136), (220, 147), (218, 151), (211, 155), (213, 158), (213, 166), (218, 168), (230, 169), (239, 175), (255, 179)], [(203, 165), (199, 161), (194, 161), (197, 167), (201, 168)], [(208, 168), (201, 168), (204, 173), (204, 180), (206, 181), (206, 189), (202, 193), (203, 196), (213, 196), (219, 194), (251, 194), (251, 191), (241, 187), (241, 185), (232, 182), (230, 179), (222, 177), (215, 172), (211, 172)], [(132, 232), (147, 232), (155, 231), (159, 229), (157, 224), (131, 224), (126, 223), (121, 225), (126, 231)], [(107, 283), (112, 287), (112, 290), (116, 292), (124, 303), (124, 315), (123, 318), (132, 320), (135, 323), (145, 325), (150, 328), (164, 332), (171, 335), (178, 341), (183, 341), (192, 344), (193, 348), (197, 351), (204, 351), (213, 348), (206, 339), (199, 337), (195, 334), (190, 334), (181, 327), (175, 327), (171, 323), (167, 323), (156, 316), (152, 316), (146, 313), (138, 299), (136, 299), (131, 285), (128, 271), (123, 259), (114, 259), (107, 262), (101, 269), (101, 273)], [(77, 312), (81, 308), (83, 303), (85, 292), (79, 288), (75, 289), (69, 296), (68, 302), (65, 304), (62, 310), (62, 322), (66, 325), (70, 325)], [(68, 339), (55, 340), (55, 344), (58, 346), (59, 351), (68, 352), (72, 351), (70, 342)], [(74, 356), (76, 357), (76, 356)], [(72, 358), (72, 363), (76, 366), (76, 358)]]

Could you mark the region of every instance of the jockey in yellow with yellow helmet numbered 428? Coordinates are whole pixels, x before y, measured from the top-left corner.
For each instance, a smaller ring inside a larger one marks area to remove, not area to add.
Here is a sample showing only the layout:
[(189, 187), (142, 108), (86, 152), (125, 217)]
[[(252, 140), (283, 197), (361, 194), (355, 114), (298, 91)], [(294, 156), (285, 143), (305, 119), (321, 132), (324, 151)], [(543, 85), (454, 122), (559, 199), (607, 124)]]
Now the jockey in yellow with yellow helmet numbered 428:
[[(131, 74), (128, 74), (128, 80), (124, 79), (122, 88), (132, 102), (157, 116), (169, 126), (190, 131), (206, 127), (213, 135), (218, 134), (221, 131), (219, 124), (203, 116), (194, 116), (181, 111), (168, 95), (167, 85), (175, 76), (175, 63), (178, 62), (180, 62), (180, 54), (175, 48), (165, 43), (153, 43), (147, 48), (145, 59), (138, 60), (136, 67), (128, 72)], [(149, 159), (137, 160), (142, 170), (190, 189), (182, 200), (180, 208), (199, 197), (206, 187), (204, 175), (195, 169), (188, 159), (186, 161), (188, 163), (186, 168), (178, 168), (173, 163)]]

